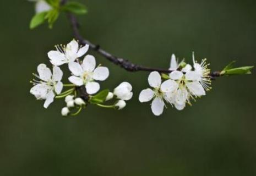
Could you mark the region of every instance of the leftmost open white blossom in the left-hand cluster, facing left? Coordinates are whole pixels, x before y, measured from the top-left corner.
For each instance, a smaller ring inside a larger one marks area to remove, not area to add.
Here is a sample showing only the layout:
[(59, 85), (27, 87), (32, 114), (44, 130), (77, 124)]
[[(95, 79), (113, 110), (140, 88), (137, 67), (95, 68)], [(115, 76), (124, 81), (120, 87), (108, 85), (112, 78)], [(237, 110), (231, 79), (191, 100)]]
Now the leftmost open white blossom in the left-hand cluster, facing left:
[(30, 93), (35, 95), (37, 100), (45, 100), (43, 107), (47, 108), (52, 102), (56, 94), (60, 94), (63, 88), (61, 82), (62, 70), (55, 66), (53, 67), (53, 74), (45, 64), (40, 64), (37, 67), (36, 78), (40, 80), (34, 80), (32, 83), (34, 87), (31, 88)]

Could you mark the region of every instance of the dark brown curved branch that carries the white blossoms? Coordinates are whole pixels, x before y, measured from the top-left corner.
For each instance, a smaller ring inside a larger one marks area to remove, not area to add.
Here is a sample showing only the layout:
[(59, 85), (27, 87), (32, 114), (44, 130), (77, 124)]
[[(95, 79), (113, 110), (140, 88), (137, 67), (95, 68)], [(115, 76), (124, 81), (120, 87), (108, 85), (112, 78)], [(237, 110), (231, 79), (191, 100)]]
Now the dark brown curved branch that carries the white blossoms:
[[(62, 0), (61, 4), (67, 3), (68, 0)], [(95, 45), (91, 43), (90, 41), (83, 38), (79, 33), (79, 23), (77, 21), (77, 18), (75, 15), (68, 13), (68, 19), (72, 26), (74, 37), (80, 42), (81, 45), (89, 45), (90, 48), (97, 53), (101, 54), (101, 56), (105, 57), (108, 61), (119, 65), (121, 68), (126, 69), (129, 72), (138, 72), (138, 71), (144, 71), (144, 72), (160, 72), (160, 73), (171, 73), (171, 70), (168, 69), (162, 69), (162, 68), (151, 68), (151, 67), (144, 67), (142, 65), (137, 65), (132, 62), (129, 62), (127, 59), (119, 58), (116, 56), (113, 56), (113, 54), (103, 50), (99, 45)], [(216, 78), (221, 76), (220, 72), (213, 72), (210, 74), (211, 78)]]

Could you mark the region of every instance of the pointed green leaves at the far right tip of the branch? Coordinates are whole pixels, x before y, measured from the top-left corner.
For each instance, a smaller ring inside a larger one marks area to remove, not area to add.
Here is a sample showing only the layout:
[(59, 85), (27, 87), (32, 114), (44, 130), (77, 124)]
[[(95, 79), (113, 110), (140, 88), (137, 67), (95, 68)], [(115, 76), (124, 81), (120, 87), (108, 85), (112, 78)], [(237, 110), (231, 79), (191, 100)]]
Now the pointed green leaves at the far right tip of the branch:
[(244, 74), (251, 74), (251, 70), (254, 68), (254, 66), (245, 66), (245, 67), (238, 67), (233, 68), (233, 65), (236, 63), (236, 61), (232, 61), (229, 63), (222, 71), (221, 75), (244, 75)]

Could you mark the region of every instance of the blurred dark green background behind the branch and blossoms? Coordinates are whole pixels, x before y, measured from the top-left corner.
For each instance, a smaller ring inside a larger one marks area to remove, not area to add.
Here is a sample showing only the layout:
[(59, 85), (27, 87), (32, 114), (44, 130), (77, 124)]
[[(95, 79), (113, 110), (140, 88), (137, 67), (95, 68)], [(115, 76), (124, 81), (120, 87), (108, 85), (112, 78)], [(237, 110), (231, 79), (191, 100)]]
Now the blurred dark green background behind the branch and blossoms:
[[(213, 70), (233, 60), (255, 65), (255, 1), (80, 2), (89, 9), (81, 34), (134, 63), (168, 68), (172, 53), (190, 62), (195, 51)], [(0, 9), (0, 175), (256, 175), (255, 73), (217, 79), (192, 107), (156, 118), (138, 102), (149, 73), (128, 73), (90, 51), (111, 71), (102, 89), (129, 81), (133, 100), (123, 111), (91, 106), (63, 118), (64, 102), (43, 109), (29, 80), (38, 64), (50, 66), (54, 45), (72, 40), (66, 16), (52, 30), (31, 31), (32, 3), (1, 1)]]

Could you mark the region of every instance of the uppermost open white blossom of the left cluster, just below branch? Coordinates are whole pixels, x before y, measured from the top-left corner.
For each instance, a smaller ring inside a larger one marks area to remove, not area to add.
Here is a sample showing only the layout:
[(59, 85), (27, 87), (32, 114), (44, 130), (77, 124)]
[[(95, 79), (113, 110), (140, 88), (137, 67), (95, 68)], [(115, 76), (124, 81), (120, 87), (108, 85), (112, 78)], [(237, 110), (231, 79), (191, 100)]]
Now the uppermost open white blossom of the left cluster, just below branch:
[(75, 59), (83, 56), (89, 50), (89, 45), (79, 47), (77, 41), (72, 40), (67, 46), (57, 45), (56, 51), (48, 52), (48, 57), (53, 65), (72, 63)]

